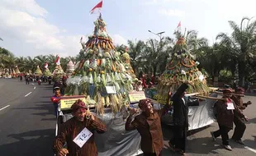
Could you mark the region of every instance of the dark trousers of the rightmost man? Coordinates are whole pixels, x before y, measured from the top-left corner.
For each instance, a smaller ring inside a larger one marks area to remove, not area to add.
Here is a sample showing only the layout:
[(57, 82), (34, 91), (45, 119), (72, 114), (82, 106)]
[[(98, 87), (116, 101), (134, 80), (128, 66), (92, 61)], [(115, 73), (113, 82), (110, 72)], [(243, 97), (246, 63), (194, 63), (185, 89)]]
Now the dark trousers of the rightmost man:
[(232, 136), (232, 139), (241, 140), (241, 138), (244, 135), (244, 131), (246, 129), (244, 121), (239, 117), (234, 117), (234, 123), (235, 123), (235, 131)]

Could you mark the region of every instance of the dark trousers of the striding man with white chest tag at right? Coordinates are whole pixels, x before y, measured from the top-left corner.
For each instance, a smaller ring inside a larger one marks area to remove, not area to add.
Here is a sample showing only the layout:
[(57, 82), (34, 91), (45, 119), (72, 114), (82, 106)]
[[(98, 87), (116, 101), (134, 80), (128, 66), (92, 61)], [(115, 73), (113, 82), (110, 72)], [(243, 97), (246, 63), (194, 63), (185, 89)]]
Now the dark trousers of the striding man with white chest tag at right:
[(222, 139), (222, 144), (223, 145), (229, 145), (229, 131), (231, 129), (226, 127), (226, 126), (222, 126), (219, 124), (219, 130), (218, 131), (214, 131), (213, 135), (217, 138), (221, 135), (221, 139)]

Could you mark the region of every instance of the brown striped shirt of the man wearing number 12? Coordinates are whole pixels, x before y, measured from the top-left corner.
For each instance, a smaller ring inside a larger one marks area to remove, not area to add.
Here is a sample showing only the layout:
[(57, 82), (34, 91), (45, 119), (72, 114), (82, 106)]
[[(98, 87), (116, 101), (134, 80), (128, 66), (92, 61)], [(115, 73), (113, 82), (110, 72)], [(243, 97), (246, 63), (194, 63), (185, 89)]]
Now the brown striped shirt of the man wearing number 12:
[(67, 156), (97, 156), (97, 147), (94, 142), (94, 135), (90, 137), (82, 148), (73, 142), (73, 139), (83, 131), (84, 127), (87, 127), (93, 134), (95, 131), (97, 131), (97, 133), (107, 131), (106, 125), (97, 117), (95, 117), (94, 121), (85, 118), (84, 122), (78, 122), (74, 117), (72, 117), (67, 122), (64, 122), (60, 127), (59, 134), (56, 136), (54, 142), (55, 153), (58, 154), (59, 150), (63, 148), (64, 143), (67, 142), (67, 149), (69, 150), (69, 154), (67, 154)]

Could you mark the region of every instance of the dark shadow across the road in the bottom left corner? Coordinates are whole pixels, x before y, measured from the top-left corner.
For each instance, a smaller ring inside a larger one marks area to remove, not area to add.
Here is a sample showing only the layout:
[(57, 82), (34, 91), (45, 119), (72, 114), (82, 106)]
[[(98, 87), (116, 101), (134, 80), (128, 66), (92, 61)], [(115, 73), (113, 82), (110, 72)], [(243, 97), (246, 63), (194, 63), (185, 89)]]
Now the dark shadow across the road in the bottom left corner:
[(8, 135), (8, 137), (12, 137), (17, 141), (11, 144), (0, 145), (1, 155), (53, 155), (52, 145), (55, 138), (54, 129), (27, 131), (20, 134)]

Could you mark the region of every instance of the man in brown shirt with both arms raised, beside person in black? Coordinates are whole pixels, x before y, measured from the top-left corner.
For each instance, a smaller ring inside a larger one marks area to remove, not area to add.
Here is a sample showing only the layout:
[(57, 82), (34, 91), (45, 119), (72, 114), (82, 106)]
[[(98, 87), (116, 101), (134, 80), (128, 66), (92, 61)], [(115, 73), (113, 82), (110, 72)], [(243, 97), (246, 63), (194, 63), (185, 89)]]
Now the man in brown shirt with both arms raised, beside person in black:
[(149, 99), (141, 99), (139, 108), (141, 114), (132, 121), (135, 109), (130, 108), (130, 116), (126, 120), (126, 131), (137, 129), (141, 136), (140, 148), (145, 156), (159, 156), (164, 147), (164, 139), (160, 118), (168, 112), (169, 104), (161, 110), (154, 110)]

